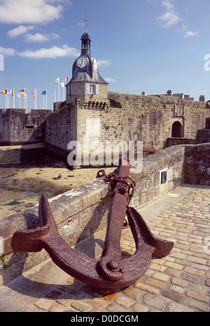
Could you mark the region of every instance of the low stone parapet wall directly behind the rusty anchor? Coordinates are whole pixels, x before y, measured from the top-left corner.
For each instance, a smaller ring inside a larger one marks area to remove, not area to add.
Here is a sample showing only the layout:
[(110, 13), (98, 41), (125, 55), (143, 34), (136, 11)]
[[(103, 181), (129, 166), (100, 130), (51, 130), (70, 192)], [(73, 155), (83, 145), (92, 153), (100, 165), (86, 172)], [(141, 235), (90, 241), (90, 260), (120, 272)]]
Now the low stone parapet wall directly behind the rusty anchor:
[[(136, 208), (146, 205), (186, 182), (210, 185), (209, 153), (210, 143), (179, 145), (144, 158), (143, 170), (134, 175), (137, 187), (130, 205)], [(201, 154), (202, 160), (198, 159)], [(208, 159), (204, 160), (205, 157)], [(203, 177), (206, 175), (205, 180), (195, 179), (196, 173), (200, 171)], [(50, 199), (59, 233), (69, 245), (74, 245), (106, 226), (111, 200), (109, 187), (104, 180), (94, 179)], [(27, 253), (13, 252), (11, 248), (11, 238), (15, 231), (34, 229), (37, 226), (38, 205), (0, 221), (0, 255), (1, 262), (6, 266), (0, 270), (0, 285), (48, 259), (45, 250)]]

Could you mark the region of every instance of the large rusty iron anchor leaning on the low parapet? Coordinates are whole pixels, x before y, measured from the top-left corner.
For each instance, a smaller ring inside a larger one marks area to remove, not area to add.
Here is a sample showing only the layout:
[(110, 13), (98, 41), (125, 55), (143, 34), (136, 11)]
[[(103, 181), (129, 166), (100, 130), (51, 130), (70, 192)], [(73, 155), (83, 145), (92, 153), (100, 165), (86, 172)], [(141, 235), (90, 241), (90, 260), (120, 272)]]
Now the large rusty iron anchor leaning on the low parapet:
[[(106, 238), (100, 259), (87, 257), (69, 247), (59, 235), (45, 195), (39, 198), (39, 227), (16, 231), (12, 238), (13, 250), (39, 252), (45, 249), (60, 269), (73, 278), (92, 285), (102, 294), (110, 294), (133, 285), (146, 273), (151, 259), (165, 257), (174, 243), (155, 238), (137, 210), (129, 207), (135, 183), (129, 177), (131, 165), (128, 160), (126, 162), (126, 157), (123, 154), (114, 175), (107, 176), (104, 170), (100, 170), (97, 175), (111, 181), (113, 187)], [(136, 251), (131, 257), (121, 259), (120, 237), (125, 215), (134, 237)]]

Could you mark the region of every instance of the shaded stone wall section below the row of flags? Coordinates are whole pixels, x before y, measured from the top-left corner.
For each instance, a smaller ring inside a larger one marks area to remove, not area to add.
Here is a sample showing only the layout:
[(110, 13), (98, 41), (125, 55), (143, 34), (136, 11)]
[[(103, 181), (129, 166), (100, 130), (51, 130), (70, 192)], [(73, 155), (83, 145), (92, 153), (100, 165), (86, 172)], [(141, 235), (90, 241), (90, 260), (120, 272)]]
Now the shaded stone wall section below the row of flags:
[(0, 145), (44, 141), (45, 117), (52, 110), (0, 109)]

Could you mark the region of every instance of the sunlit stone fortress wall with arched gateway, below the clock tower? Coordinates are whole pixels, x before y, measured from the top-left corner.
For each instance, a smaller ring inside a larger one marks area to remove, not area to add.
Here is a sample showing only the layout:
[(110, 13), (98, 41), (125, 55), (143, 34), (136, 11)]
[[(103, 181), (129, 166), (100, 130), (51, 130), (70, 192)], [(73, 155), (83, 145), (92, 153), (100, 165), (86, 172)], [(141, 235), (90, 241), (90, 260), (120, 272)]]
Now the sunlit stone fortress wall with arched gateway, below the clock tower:
[(100, 135), (89, 137), (90, 142), (141, 140), (145, 147), (160, 150), (168, 146), (174, 123), (180, 126), (181, 134), (176, 136), (181, 137), (179, 144), (190, 144), (195, 143), (197, 130), (205, 128), (210, 117), (209, 103), (206, 102), (112, 92), (108, 97), (106, 106), (90, 101), (82, 104), (77, 99), (75, 104), (66, 105), (65, 102), (64, 107), (61, 105), (61, 109), (50, 114), (45, 128), (47, 147), (66, 158), (71, 140), (78, 140), (83, 145), (87, 118), (99, 118)]

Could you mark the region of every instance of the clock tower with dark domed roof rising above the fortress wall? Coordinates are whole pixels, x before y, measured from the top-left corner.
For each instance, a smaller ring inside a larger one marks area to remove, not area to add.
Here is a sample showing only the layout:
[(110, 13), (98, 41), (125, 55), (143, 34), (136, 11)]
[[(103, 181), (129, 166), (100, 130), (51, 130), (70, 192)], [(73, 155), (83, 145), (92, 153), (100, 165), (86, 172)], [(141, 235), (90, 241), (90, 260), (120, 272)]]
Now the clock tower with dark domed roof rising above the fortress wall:
[(73, 62), (72, 78), (66, 84), (66, 104), (79, 102), (81, 106), (94, 103), (97, 107), (107, 104), (108, 83), (99, 75), (97, 60), (91, 57), (91, 39), (87, 30), (81, 37), (81, 53)]

